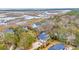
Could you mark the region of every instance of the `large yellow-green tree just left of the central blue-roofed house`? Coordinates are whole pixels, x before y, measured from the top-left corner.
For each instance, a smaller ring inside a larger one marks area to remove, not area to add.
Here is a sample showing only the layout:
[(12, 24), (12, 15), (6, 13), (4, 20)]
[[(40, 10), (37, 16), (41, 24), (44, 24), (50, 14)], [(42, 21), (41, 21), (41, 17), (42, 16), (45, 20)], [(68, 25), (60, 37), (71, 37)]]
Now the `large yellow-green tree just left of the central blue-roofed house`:
[(32, 43), (36, 41), (36, 37), (34, 37), (30, 33), (25, 33), (22, 40), (19, 42), (19, 46), (23, 47), (23, 49), (29, 49), (32, 47)]

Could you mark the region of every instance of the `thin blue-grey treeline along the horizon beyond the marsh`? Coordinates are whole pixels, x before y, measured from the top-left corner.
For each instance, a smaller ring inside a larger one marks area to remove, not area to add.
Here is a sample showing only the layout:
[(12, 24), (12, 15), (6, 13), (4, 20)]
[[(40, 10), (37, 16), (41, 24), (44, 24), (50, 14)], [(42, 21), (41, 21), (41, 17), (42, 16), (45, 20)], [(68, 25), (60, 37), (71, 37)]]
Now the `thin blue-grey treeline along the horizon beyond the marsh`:
[(8, 8), (8, 9), (0, 9), (0, 11), (51, 11), (51, 10), (77, 10), (79, 11), (79, 8)]

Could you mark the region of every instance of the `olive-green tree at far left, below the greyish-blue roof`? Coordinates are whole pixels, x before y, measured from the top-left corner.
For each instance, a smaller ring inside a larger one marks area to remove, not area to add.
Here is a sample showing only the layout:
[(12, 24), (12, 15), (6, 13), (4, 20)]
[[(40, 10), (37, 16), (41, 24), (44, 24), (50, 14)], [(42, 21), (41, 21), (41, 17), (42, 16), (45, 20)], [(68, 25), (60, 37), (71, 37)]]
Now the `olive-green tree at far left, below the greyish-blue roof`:
[(5, 42), (6, 46), (9, 46), (9, 44), (10, 44), (10, 46), (11, 45), (15, 45), (13, 47), (13, 49), (15, 49), (16, 48), (16, 44), (17, 44), (16, 36), (14, 34), (12, 34), (12, 33), (5, 33), (4, 35), (5, 35), (4, 42)]

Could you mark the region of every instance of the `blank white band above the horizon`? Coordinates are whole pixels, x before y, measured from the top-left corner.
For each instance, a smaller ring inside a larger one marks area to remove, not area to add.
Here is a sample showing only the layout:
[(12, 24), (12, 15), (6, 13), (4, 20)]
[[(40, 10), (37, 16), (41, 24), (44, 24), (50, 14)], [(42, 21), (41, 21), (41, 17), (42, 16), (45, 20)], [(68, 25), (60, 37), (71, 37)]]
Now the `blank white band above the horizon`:
[(79, 0), (0, 0), (0, 8), (78, 8)]

